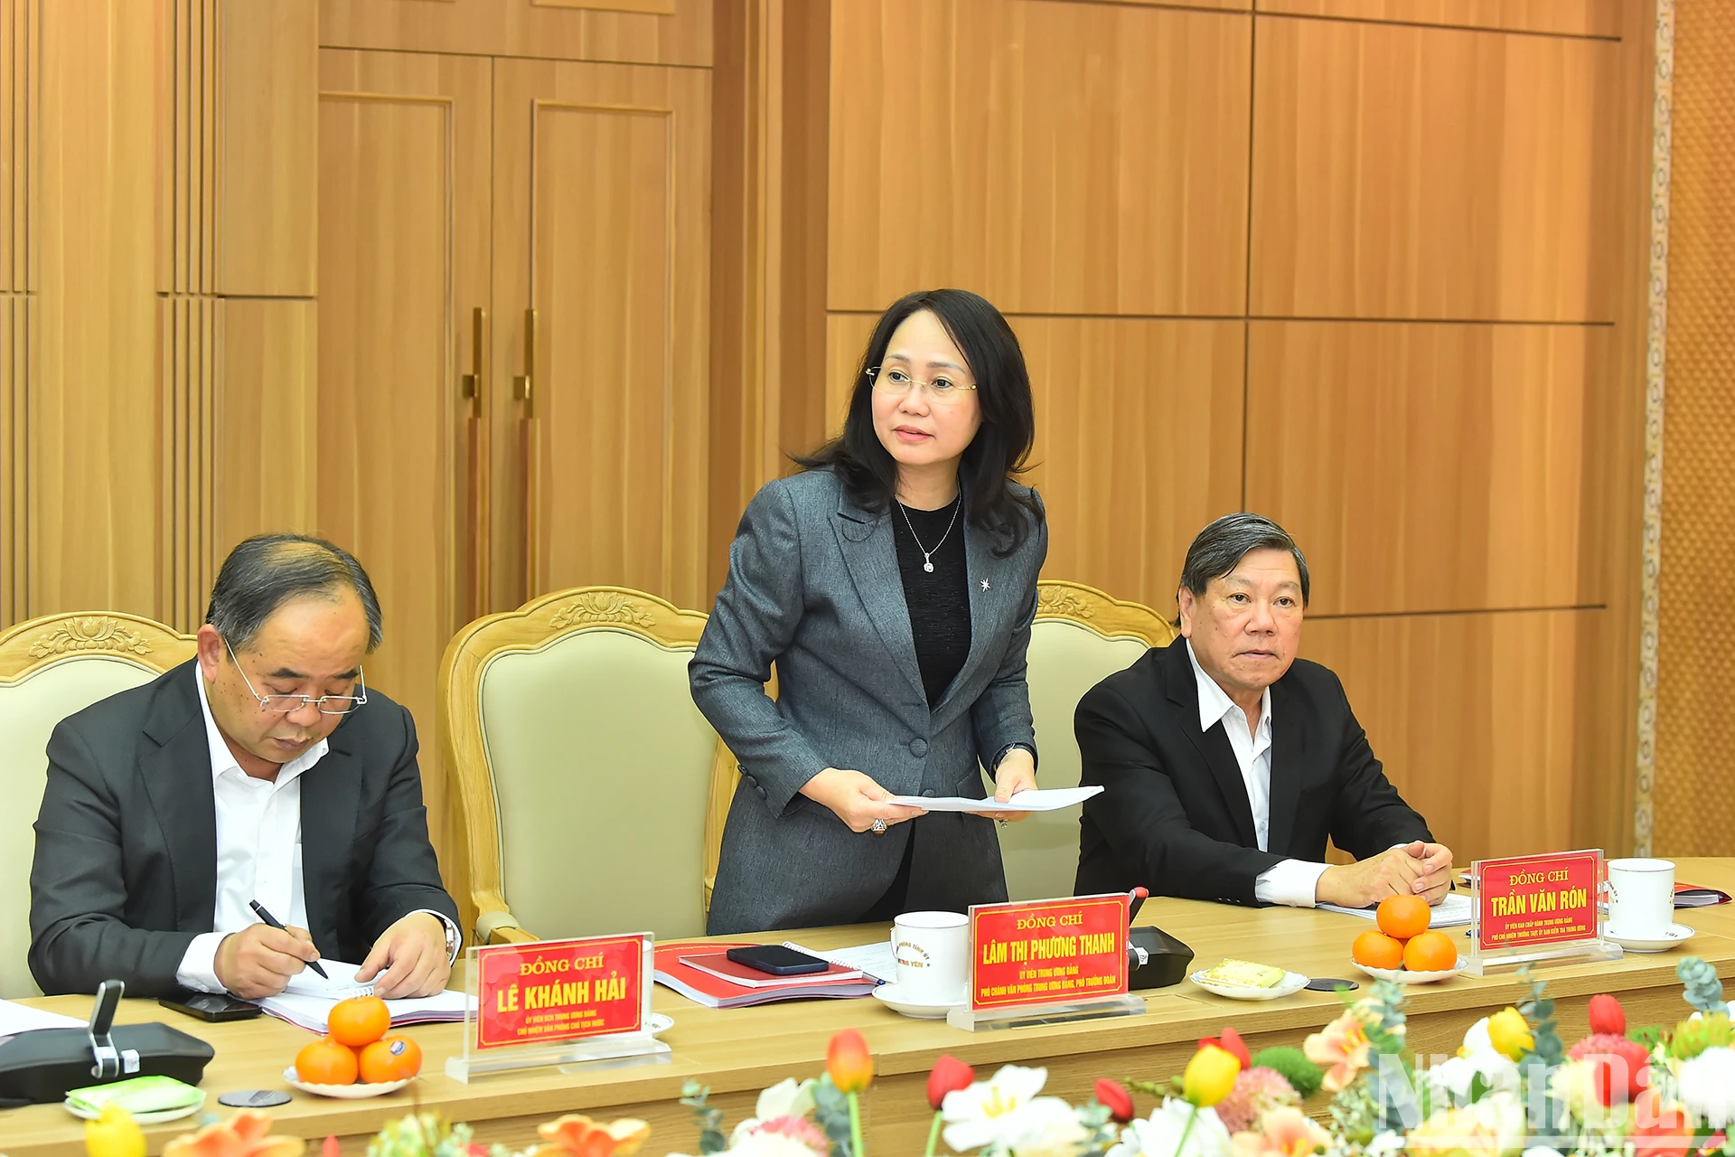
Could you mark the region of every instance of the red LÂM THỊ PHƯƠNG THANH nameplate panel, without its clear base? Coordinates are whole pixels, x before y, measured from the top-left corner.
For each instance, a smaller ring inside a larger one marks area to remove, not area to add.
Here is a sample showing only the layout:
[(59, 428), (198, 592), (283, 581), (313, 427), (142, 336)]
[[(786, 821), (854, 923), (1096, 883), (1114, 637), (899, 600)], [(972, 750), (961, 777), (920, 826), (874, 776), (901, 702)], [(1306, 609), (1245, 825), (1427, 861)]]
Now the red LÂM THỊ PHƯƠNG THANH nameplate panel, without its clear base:
[(1126, 923), (1124, 892), (972, 905), (972, 1011), (1124, 994)]

